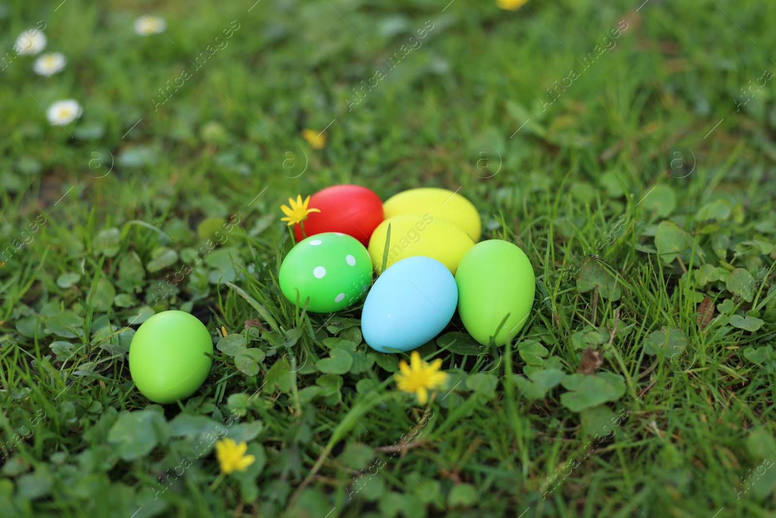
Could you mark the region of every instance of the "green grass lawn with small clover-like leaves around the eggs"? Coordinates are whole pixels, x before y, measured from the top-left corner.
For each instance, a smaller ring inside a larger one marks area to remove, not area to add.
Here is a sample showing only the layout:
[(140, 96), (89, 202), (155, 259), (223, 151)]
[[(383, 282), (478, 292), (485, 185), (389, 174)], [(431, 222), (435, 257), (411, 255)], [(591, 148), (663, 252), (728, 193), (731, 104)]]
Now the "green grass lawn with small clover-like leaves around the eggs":
[[(43, 20), (68, 57), (51, 78), (29, 56), (0, 71), (3, 516), (771, 516), (771, 2), (57, 3), (0, 10), (3, 53)], [(165, 34), (135, 35), (140, 9)], [(47, 123), (57, 99), (78, 123)], [(532, 261), (513, 343), (424, 346), (449, 373), (428, 411), (396, 390), (395, 357), (367, 354), (359, 308), (280, 295), (279, 205), (336, 183), (459, 189), (483, 238)], [(214, 340), (246, 333), (259, 372), (217, 350), (195, 396), (149, 405), (127, 324), (171, 308)], [(317, 370), (335, 335), (363, 368)], [(598, 374), (572, 377), (587, 345)], [(219, 423), (256, 455), (245, 474), (217, 478)]]

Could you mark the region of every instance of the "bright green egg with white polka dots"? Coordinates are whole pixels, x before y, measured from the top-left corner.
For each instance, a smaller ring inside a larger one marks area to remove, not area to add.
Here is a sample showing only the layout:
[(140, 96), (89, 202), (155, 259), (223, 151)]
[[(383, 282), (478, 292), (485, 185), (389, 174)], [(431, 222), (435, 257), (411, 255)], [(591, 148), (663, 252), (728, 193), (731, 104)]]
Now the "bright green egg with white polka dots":
[[(339, 232), (311, 235), (280, 265), (280, 290), (292, 304), (329, 313), (357, 303), (372, 284), (372, 259), (358, 239)], [(309, 301), (308, 301), (309, 299)]]

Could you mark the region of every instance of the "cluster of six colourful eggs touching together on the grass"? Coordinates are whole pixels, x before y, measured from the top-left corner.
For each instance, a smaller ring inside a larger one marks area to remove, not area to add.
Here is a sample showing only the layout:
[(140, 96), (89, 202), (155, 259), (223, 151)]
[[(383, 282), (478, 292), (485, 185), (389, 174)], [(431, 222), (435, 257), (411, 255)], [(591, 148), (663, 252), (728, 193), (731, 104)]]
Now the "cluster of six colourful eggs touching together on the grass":
[(456, 308), (483, 345), (504, 345), (528, 320), (535, 293), (528, 257), (510, 242), (478, 243), (480, 214), (460, 194), (410, 189), (383, 203), (366, 187), (340, 185), (311, 196), (308, 207), (320, 212), (294, 225), (298, 243), (280, 266), (282, 293), (318, 313), (365, 296), (362, 335), (372, 349), (422, 346)]

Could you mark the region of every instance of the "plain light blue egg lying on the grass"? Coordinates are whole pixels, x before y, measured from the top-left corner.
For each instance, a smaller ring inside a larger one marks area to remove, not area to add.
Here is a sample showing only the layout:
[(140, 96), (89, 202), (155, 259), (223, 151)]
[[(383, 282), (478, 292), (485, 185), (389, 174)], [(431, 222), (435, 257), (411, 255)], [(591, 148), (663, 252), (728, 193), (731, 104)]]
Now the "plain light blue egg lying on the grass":
[(369, 290), (361, 332), (381, 353), (415, 349), (445, 329), (456, 304), (458, 287), (447, 266), (430, 257), (407, 257), (386, 269)]

